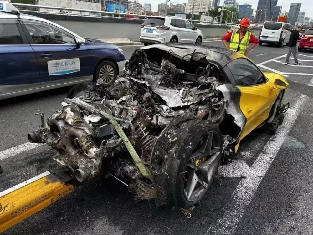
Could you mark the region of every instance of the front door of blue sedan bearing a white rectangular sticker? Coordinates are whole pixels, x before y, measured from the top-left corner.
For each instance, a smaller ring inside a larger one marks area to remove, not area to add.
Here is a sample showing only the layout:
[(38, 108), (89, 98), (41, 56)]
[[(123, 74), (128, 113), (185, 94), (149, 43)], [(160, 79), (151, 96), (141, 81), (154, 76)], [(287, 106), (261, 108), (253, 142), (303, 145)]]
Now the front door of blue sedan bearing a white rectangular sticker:
[(92, 78), (90, 52), (85, 44), (76, 46), (73, 35), (50, 23), (29, 19), (22, 22), (38, 60), (40, 87)]

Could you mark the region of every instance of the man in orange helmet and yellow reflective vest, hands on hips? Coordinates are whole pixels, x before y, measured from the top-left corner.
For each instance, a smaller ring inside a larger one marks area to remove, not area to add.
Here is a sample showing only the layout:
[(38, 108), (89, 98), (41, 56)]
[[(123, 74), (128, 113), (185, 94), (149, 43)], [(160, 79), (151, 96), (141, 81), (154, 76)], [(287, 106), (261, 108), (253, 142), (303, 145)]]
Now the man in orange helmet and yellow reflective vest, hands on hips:
[[(259, 40), (250, 32), (247, 32), (247, 29), (250, 26), (250, 20), (248, 18), (241, 19), (239, 25), (240, 29), (233, 30), (226, 34), (223, 36), (222, 41), (225, 48), (246, 55), (259, 43)], [(230, 42), (229, 46), (227, 42)], [(250, 43), (252, 43), (252, 45), (248, 48)]]

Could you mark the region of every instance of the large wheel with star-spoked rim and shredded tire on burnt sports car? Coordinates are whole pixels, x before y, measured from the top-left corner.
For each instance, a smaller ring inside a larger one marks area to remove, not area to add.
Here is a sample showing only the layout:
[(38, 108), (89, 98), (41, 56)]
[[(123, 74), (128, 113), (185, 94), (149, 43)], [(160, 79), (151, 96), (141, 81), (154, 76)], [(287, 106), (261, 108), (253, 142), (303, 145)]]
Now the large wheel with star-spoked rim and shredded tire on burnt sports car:
[[(190, 207), (199, 202), (208, 191), (222, 158), (222, 133), (218, 126), (204, 120), (183, 123), (178, 129), (168, 130), (177, 133), (171, 139), (174, 148), (164, 149), (165, 191), (169, 203), (175, 207)], [(173, 140), (173, 139), (172, 139)]]

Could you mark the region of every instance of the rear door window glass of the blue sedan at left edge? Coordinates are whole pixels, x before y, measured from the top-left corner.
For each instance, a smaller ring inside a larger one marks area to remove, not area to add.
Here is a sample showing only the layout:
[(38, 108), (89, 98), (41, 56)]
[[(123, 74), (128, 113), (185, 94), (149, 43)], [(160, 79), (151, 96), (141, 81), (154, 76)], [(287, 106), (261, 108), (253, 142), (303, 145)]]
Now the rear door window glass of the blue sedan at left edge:
[(0, 45), (24, 44), (17, 23), (8, 20), (0, 20)]

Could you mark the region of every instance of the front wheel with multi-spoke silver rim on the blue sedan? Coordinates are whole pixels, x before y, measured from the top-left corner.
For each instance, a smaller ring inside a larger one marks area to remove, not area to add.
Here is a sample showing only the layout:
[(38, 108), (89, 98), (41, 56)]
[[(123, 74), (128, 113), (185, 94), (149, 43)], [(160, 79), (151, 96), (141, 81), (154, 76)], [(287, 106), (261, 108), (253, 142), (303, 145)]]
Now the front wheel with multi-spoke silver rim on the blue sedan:
[(117, 69), (113, 62), (105, 60), (102, 61), (95, 70), (95, 81), (99, 78), (103, 80), (104, 86), (113, 84), (117, 77)]

